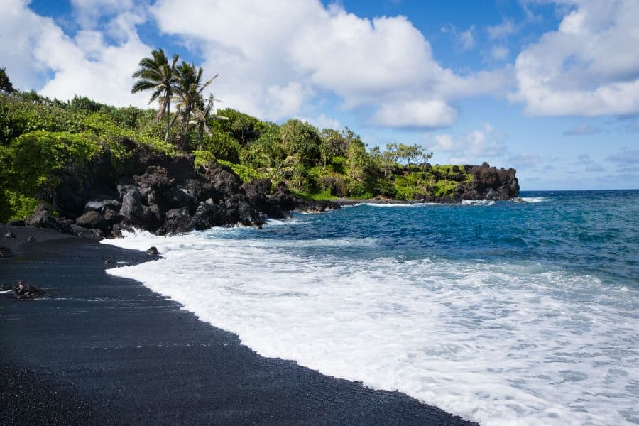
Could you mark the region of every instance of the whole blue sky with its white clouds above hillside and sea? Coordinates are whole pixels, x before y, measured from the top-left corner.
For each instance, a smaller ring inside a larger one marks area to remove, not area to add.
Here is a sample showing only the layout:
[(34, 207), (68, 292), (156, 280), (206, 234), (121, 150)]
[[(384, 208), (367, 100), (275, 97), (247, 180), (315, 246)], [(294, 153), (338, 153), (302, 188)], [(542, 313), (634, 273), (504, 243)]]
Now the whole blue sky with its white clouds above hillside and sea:
[(220, 74), (220, 107), (512, 166), (524, 190), (638, 188), (638, 21), (636, 0), (4, 0), (0, 67), (142, 107), (131, 73), (163, 47)]

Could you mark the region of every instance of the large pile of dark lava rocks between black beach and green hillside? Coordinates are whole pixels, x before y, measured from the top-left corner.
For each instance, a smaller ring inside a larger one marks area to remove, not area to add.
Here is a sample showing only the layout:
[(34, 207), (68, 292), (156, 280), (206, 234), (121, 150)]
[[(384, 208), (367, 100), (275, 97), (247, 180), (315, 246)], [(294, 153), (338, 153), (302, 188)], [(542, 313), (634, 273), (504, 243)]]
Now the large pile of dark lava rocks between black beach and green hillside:
[(261, 226), (267, 217), (288, 217), (295, 209), (339, 208), (332, 202), (302, 200), (283, 183), (271, 190), (267, 179), (242, 182), (217, 163), (196, 170), (192, 155), (170, 157), (130, 139), (120, 142), (130, 155), (117, 165), (104, 155), (95, 158), (82, 179), (72, 173), (62, 176), (50, 199), (53, 208), (40, 204), (26, 226), (81, 236), (119, 236), (133, 227), (177, 234), (212, 226)]

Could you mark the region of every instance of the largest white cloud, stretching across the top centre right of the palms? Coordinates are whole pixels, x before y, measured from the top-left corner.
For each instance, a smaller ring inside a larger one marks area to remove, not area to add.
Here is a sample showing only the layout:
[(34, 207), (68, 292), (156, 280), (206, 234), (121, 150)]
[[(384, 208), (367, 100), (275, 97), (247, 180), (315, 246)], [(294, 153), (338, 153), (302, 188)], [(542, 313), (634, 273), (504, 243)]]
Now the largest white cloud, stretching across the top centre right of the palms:
[[(160, 0), (151, 13), (161, 31), (199, 46), (204, 68), (220, 74), (217, 96), (267, 119), (295, 109), (271, 108), (279, 91), (268, 88), (298, 84), (296, 114), (312, 116), (309, 105), (329, 93), (345, 109), (378, 108), (375, 121), (385, 126), (447, 126), (457, 115), (450, 102), (503, 92), (511, 81), (508, 72), (460, 76), (442, 67), (403, 16), (360, 18), (317, 0)], [(399, 116), (384, 104), (419, 112)]]

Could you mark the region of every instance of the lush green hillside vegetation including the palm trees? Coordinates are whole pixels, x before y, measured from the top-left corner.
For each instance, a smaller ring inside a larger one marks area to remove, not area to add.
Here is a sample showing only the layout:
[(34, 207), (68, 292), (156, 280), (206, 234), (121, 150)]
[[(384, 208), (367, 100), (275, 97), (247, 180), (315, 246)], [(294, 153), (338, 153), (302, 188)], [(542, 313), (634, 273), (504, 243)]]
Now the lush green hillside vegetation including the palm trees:
[(463, 166), (431, 166), (432, 153), (417, 145), (368, 149), (347, 127), (320, 130), (295, 119), (275, 124), (229, 108), (213, 114), (215, 99), (203, 92), (217, 76), (203, 81), (202, 68), (178, 65), (177, 55), (169, 61), (162, 50), (144, 58), (134, 77), (133, 92), (151, 92), (158, 110), (13, 91), (0, 70), (0, 222), (31, 214), (62, 172), (81, 180), (84, 166), (100, 155), (118, 165), (131, 154), (131, 140), (158, 153), (191, 153), (196, 167), (217, 161), (244, 181), (282, 181), (322, 200), (450, 197), (459, 182), (473, 179)]

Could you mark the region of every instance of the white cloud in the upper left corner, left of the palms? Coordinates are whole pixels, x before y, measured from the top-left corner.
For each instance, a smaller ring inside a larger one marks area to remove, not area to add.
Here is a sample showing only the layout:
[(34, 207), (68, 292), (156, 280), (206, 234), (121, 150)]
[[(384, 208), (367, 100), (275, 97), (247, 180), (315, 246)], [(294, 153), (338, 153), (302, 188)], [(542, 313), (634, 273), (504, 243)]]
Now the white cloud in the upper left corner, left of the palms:
[(121, 37), (116, 45), (106, 43), (102, 31), (83, 29), (71, 38), (21, 0), (4, 1), (0, 16), (0, 57), (18, 87), (41, 87), (44, 80), (40, 92), (48, 97), (82, 94), (107, 104), (146, 105), (146, 95), (131, 94), (131, 74), (151, 50), (135, 30), (141, 16), (124, 11), (107, 23)]

